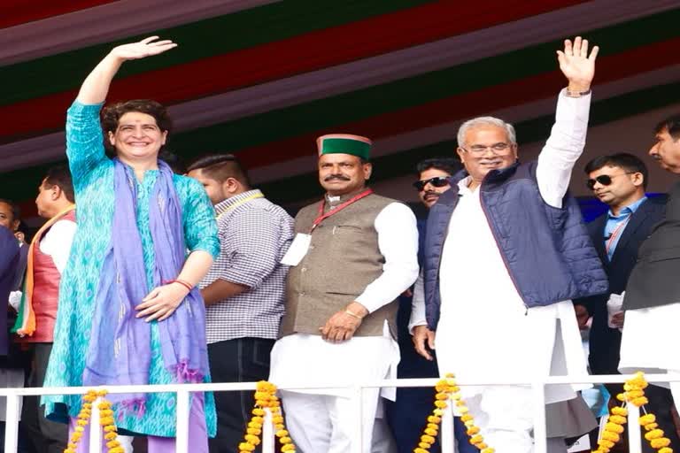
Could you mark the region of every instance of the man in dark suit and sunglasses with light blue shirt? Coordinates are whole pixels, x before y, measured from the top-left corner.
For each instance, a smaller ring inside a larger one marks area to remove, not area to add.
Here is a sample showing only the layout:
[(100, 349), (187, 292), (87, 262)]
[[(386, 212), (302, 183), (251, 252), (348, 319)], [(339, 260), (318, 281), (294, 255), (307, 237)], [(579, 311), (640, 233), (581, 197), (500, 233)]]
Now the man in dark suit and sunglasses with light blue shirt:
[[(653, 226), (664, 218), (665, 200), (647, 198), (647, 168), (638, 157), (627, 153), (596, 157), (585, 165), (587, 185), (609, 210), (588, 225), (592, 242), (598, 250), (609, 280), (608, 294), (579, 299), (576, 315), (583, 326), (592, 318), (589, 364), (592, 374), (616, 374), (621, 348), (623, 312), (610, 317), (609, 300), (621, 299), (629, 276), (638, 260), (640, 244), (651, 234)], [(614, 326), (614, 327), (612, 327)], [(612, 395), (621, 385), (607, 385)], [(646, 390), (648, 409), (676, 445), (677, 437), (671, 416), (672, 399), (667, 389), (651, 386)], [(672, 437), (671, 437), (672, 435)], [(645, 451), (653, 451), (645, 445)]]

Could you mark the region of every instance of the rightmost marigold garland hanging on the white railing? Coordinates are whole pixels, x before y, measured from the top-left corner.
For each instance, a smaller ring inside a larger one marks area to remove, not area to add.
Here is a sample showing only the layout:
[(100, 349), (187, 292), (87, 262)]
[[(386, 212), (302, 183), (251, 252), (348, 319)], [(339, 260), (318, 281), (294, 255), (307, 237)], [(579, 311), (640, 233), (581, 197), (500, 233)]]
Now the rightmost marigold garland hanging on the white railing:
[(645, 396), (645, 388), (648, 385), (643, 372), (637, 372), (632, 379), (626, 380), (626, 383), (623, 384), (623, 393), (616, 395), (616, 399), (622, 405), (616, 406), (610, 411), (602, 437), (598, 441), (598, 449), (593, 453), (609, 453), (616, 442), (621, 440), (624, 431), (623, 425), (628, 421), (629, 404), (640, 407), (645, 412), (645, 415), (640, 417), (640, 426), (645, 428), (645, 439), (652, 448), (658, 449), (659, 453), (673, 453), (673, 449), (670, 448), (670, 440), (668, 437), (664, 437), (663, 430), (659, 429), (656, 417), (645, 409), (645, 404), (649, 403)]

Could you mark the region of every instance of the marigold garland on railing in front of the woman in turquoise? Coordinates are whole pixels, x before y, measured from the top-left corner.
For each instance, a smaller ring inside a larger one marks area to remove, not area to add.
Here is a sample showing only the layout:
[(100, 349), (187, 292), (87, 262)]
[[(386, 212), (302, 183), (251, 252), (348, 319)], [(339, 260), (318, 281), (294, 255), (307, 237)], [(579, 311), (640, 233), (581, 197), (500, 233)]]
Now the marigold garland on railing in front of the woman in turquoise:
[(118, 441), (118, 428), (116, 428), (115, 420), (113, 419), (112, 404), (104, 396), (106, 390), (89, 390), (86, 395), (83, 395), (82, 407), (76, 420), (76, 426), (71, 434), (71, 440), (66, 444), (64, 453), (75, 453), (78, 448), (78, 442), (82, 439), (82, 434), (85, 432), (85, 427), (89, 425), (89, 418), (92, 416), (92, 404), (97, 398), (101, 398), (97, 409), (99, 410), (99, 425), (104, 429), (104, 439), (106, 440), (106, 448), (108, 453), (125, 453), (125, 449)]

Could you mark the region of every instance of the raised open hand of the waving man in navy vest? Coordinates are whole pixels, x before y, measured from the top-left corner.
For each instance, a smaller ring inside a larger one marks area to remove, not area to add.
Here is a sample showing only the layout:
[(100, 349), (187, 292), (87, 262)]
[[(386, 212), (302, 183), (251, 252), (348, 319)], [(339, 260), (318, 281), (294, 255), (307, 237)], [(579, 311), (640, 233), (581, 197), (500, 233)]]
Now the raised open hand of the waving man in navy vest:
[(582, 40), (581, 36), (576, 36), (573, 45), (570, 40), (564, 41), (564, 51), (557, 51), (557, 59), (560, 61), (560, 70), (569, 81), (570, 90), (588, 91), (591, 88), (598, 52), (599, 47), (595, 46), (588, 56), (588, 40)]

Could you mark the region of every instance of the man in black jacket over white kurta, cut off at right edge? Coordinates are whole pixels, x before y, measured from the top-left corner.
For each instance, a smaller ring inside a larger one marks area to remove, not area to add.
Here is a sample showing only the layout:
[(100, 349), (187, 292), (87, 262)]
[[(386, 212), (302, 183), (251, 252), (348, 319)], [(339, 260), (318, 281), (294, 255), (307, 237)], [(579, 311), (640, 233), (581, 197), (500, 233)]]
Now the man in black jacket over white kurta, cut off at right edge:
[[(655, 132), (656, 140), (649, 150), (650, 156), (665, 170), (680, 174), (680, 115), (661, 121)], [(638, 263), (630, 273), (623, 300), (626, 326), (621, 343), (621, 372), (680, 372), (680, 356), (677, 354), (680, 342), (677, 329), (680, 318), (678, 269), (680, 182), (668, 194), (666, 218), (654, 226), (651, 235), (642, 244)], [(670, 388), (677, 401), (680, 385), (671, 383)], [(664, 432), (673, 446), (680, 444), (671, 437), (670, 434), (674, 433), (668, 429)]]

